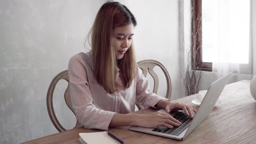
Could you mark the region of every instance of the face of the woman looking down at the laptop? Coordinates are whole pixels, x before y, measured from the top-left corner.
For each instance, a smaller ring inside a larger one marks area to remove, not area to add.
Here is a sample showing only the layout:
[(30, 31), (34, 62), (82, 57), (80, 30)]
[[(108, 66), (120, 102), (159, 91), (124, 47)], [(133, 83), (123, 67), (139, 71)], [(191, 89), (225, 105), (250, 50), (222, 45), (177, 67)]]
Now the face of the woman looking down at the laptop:
[(123, 58), (125, 52), (130, 48), (133, 35), (133, 23), (116, 27), (113, 30), (113, 47), (117, 59)]

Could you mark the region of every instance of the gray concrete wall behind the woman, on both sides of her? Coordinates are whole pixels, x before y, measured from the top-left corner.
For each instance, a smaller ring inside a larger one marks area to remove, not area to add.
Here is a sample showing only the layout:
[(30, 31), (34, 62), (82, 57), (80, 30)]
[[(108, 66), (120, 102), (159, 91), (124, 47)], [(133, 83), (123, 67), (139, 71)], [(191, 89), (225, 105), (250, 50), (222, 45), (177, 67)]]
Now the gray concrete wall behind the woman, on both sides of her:
[[(48, 87), (57, 73), (67, 69), (71, 56), (85, 51), (86, 34), (104, 2), (0, 1), (0, 143), (21, 143), (58, 132), (46, 109)], [(172, 79), (171, 98), (182, 97), (178, 0), (121, 3), (138, 21), (137, 61), (163, 63)], [(56, 86), (54, 107), (61, 124), (70, 129), (75, 117), (63, 100), (66, 86), (65, 81)], [(159, 94), (165, 91), (165, 83), (160, 83)]]

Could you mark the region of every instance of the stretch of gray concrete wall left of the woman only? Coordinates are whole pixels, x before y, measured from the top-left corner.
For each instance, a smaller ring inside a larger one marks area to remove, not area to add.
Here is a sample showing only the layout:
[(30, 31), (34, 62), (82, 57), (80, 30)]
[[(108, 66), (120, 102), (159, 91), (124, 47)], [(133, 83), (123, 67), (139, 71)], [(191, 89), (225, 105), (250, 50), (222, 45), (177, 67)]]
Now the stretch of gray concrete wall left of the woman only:
[[(85, 36), (106, 1), (0, 1), (0, 143), (20, 143), (57, 133), (46, 93), (69, 58), (84, 50)], [(57, 116), (66, 128), (75, 117), (56, 87)], [(62, 100), (62, 101), (61, 101)]]

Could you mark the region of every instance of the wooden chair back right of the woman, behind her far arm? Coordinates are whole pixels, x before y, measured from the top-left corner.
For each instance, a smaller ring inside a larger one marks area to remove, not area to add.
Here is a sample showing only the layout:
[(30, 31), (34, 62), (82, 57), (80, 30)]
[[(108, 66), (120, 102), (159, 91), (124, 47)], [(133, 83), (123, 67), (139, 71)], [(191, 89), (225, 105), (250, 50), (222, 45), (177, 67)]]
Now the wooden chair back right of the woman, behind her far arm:
[[(172, 92), (171, 78), (170, 78), (170, 75), (168, 74), (168, 71), (164, 67), (164, 65), (162, 65), (158, 61), (154, 61), (151, 59), (147, 59), (147, 60), (138, 62), (138, 67), (142, 69), (143, 75), (146, 77), (147, 74), (149, 73), (153, 77), (153, 79), (154, 79), (153, 93), (157, 94), (158, 86), (159, 86), (159, 79), (158, 79), (158, 75), (156, 75), (156, 73), (153, 70), (156, 65), (159, 66), (165, 74), (166, 82), (167, 82), (167, 92), (166, 92), (165, 98), (170, 99), (171, 92)], [(139, 110), (141, 110), (142, 107), (140, 105), (136, 104), (136, 106), (138, 107)]]

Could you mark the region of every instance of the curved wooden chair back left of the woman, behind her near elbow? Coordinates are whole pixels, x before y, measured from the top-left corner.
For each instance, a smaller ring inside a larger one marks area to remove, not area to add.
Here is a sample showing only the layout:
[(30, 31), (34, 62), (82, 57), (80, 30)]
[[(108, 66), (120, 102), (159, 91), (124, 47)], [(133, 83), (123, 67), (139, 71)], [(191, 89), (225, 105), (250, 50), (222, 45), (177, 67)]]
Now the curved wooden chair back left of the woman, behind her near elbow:
[[(58, 119), (55, 115), (54, 107), (53, 107), (53, 93), (54, 93), (54, 89), (55, 89), (57, 82), (59, 82), (62, 79), (66, 80), (68, 82), (68, 87), (65, 91), (64, 97), (65, 97), (67, 106), (74, 113), (74, 110), (73, 110), (72, 104), (71, 104), (71, 97), (70, 97), (70, 90), (69, 90), (69, 79), (68, 79), (68, 71), (67, 70), (62, 71), (61, 73), (57, 74), (54, 77), (53, 81), (51, 81), (51, 84), (48, 88), (47, 97), (46, 97), (47, 110), (48, 110), (48, 114), (50, 116), (51, 122), (53, 122), (54, 127), (57, 130), (59, 130), (60, 132), (66, 131), (66, 129), (62, 127), (62, 125), (60, 124), (60, 122), (58, 121)], [(75, 127), (77, 127), (77, 124), (75, 124)]]

